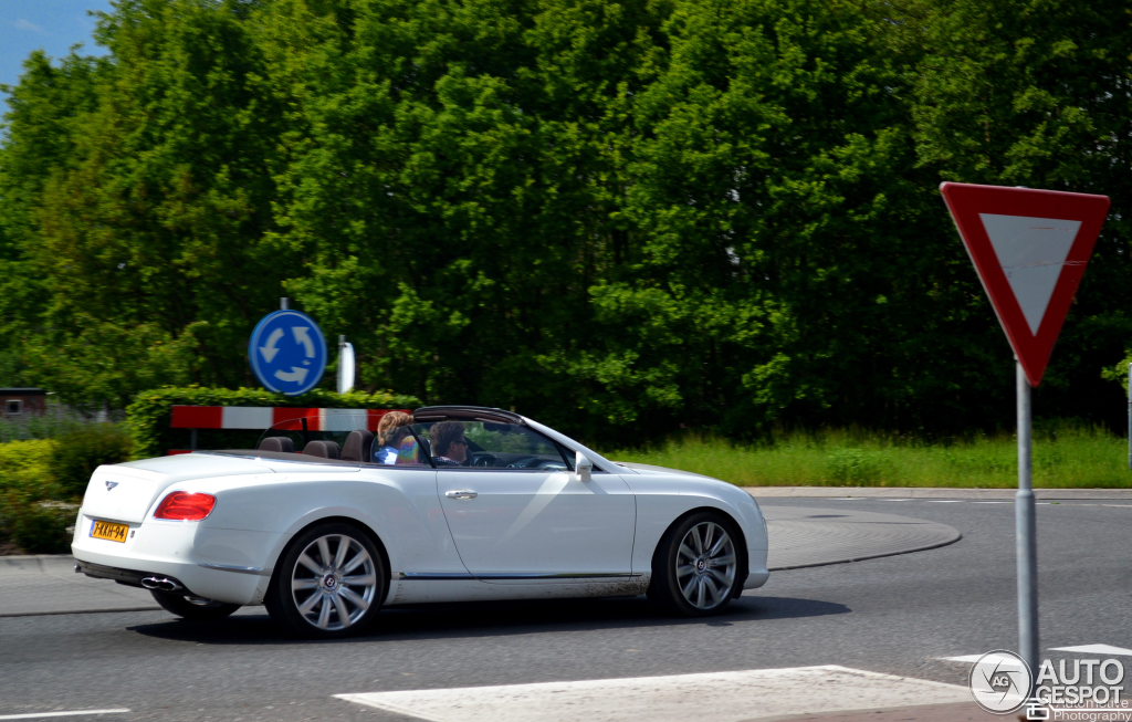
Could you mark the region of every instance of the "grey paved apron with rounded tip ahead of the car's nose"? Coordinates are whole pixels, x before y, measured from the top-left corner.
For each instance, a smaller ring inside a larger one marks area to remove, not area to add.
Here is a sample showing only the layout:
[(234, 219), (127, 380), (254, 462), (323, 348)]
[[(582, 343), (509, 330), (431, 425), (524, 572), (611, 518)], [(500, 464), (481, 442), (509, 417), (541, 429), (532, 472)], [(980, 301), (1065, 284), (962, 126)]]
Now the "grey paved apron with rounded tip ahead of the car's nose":
[(860, 561), (959, 541), (938, 522), (856, 509), (764, 506), (773, 570)]

